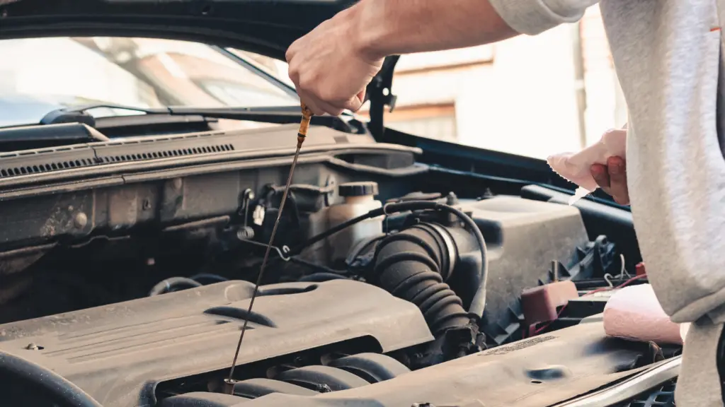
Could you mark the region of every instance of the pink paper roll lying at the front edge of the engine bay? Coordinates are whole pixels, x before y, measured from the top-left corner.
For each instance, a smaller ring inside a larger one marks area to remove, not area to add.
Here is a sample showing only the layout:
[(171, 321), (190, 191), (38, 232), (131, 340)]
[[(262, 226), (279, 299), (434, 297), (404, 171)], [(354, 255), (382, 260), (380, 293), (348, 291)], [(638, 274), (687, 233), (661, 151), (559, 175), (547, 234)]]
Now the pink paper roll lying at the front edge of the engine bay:
[(604, 308), (604, 330), (610, 336), (681, 345), (687, 327), (670, 321), (649, 284), (618, 290)]

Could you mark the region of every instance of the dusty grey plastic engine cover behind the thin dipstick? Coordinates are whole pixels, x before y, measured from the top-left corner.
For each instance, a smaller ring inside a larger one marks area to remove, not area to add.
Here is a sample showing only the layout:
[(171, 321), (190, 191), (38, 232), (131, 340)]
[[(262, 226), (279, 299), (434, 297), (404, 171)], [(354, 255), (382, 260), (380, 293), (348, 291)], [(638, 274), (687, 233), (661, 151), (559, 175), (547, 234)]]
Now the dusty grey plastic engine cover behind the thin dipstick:
[[(252, 290), (223, 282), (3, 324), (0, 349), (52, 369), (104, 407), (153, 406), (155, 383), (229, 367)], [(265, 286), (249, 321), (238, 364), (360, 337), (383, 352), (433, 339), (413, 303), (349, 280)]]

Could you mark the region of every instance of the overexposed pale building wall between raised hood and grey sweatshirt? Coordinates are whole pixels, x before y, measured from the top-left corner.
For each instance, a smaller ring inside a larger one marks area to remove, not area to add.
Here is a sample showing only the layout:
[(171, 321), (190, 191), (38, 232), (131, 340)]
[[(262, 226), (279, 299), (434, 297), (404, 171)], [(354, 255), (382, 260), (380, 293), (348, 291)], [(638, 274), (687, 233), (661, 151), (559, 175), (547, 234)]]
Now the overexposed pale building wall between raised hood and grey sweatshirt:
[[(285, 76), (285, 64), (270, 67)], [(537, 158), (626, 123), (599, 7), (536, 37), (402, 56), (393, 93), (389, 127)]]

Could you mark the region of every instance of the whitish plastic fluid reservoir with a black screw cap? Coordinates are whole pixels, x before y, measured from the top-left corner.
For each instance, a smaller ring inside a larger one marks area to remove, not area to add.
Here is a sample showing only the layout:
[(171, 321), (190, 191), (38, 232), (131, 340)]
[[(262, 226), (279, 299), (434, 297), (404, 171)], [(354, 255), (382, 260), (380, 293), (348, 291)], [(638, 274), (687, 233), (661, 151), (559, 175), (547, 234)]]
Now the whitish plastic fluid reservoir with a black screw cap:
[[(348, 182), (340, 184), (338, 195), (344, 201), (341, 204), (335, 204), (327, 210), (327, 226), (336, 227), (343, 222), (367, 214), (373, 209), (383, 206), (380, 201), (376, 201), (375, 196), (378, 195), (377, 182)], [(376, 217), (359, 222), (347, 229), (332, 235), (327, 240), (328, 253), (330, 261), (334, 264), (337, 261), (344, 260), (347, 253), (365, 238), (380, 235), (383, 232), (384, 217)]]

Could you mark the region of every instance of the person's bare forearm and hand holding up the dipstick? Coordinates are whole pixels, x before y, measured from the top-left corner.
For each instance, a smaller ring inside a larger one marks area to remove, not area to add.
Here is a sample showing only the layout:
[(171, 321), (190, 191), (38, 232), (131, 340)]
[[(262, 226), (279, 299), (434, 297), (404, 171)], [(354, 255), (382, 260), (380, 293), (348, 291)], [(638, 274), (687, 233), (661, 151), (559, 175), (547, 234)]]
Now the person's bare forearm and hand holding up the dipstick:
[(289, 77), (315, 114), (360, 109), (389, 55), (501, 41), (518, 33), (487, 0), (361, 0), (287, 50)]

